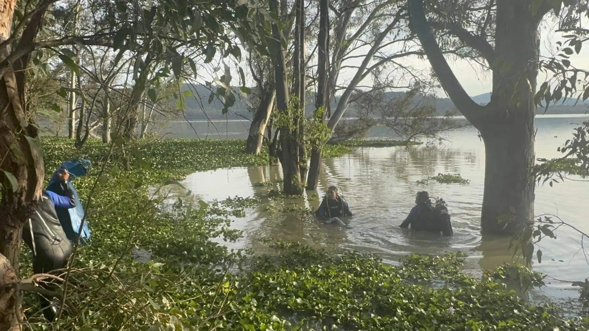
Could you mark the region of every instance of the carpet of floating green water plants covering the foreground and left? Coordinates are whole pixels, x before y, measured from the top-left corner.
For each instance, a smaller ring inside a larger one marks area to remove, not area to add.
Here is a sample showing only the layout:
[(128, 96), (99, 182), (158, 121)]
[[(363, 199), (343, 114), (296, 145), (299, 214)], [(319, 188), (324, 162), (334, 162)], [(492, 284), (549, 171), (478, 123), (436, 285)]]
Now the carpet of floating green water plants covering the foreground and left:
[[(374, 254), (286, 241), (273, 245), (275, 254), (230, 251), (219, 239), (235, 241), (241, 233), (230, 228), (229, 216), (259, 200), (207, 203), (188, 192), (166, 205), (159, 184), (188, 170), (265, 160), (240, 154), (232, 142), (219, 145), (221, 155), (195, 148), (197, 157), (180, 147), (204, 142), (168, 141), (146, 154), (147, 165), (132, 163), (130, 171), (109, 161), (108, 178), (99, 180), (105, 150), (92, 144), (82, 151), (98, 167), (74, 182), (82, 198), (100, 184), (88, 213), (92, 241), (77, 252), (75, 284), (56, 289), (67, 297), (57, 322), (44, 321), (36, 296), (23, 297), (25, 318), (38, 329), (587, 330), (588, 319), (565, 320), (553, 307), (531, 306), (502, 283), (502, 275), (517, 280), (525, 270), (504, 268), (475, 279), (463, 272), (461, 253), (413, 254), (389, 266)], [(147, 143), (137, 145), (149, 150)], [(44, 149), (48, 173), (81, 153), (63, 139), (44, 140)], [(134, 249), (146, 252), (147, 262), (135, 260)], [(24, 249), (23, 278), (31, 273), (29, 255)]]

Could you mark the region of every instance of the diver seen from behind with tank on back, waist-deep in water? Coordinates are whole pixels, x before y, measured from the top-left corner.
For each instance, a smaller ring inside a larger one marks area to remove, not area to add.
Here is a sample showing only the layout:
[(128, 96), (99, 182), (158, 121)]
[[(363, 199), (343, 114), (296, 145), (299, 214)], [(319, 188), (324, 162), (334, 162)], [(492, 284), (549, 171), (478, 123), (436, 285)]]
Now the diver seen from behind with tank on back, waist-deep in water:
[(419, 191), (415, 197), (415, 206), (411, 208), (409, 215), (401, 223), (402, 228), (411, 226), (415, 231), (429, 231), (451, 236), (454, 231), (450, 222), (448, 207), (443, 199), (436, 200), (432, 206), (427, 191)]

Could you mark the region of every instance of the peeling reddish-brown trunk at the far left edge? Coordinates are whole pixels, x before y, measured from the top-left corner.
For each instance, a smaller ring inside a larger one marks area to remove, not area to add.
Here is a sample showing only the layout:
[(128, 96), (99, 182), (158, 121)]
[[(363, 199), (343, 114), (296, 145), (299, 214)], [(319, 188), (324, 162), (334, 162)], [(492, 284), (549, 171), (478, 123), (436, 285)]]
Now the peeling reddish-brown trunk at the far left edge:
[[(12, 15), (16, 1), (0, 2), (0, 44), (11, 35)], [(22, 31), (19, 46), (31, 43), (41, 25), (44, 10), (33, 15)], [(8, 56), (10, 46), (0, 48), (0, 62)], [(18, 281), (18, 257), (22, 226), (41, 196), (44, 165), (39, 146), (38, 129), (28, 124), (25, 108), (25, 55), (0, 75), (0, 284)], [(14, 71), (12, 70), (14, 68)], [(0, 330), (19, 330), (22, 319), (19, 293), (0, 287)]]

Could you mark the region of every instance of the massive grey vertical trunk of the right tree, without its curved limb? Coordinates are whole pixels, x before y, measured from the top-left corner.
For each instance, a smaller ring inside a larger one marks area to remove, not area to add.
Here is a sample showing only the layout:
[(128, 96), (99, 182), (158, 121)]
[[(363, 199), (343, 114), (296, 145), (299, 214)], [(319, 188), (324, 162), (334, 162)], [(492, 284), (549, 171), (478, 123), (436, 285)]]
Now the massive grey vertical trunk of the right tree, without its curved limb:
[[(534, 217), (534, 95), (540, 61), (540, 19), (531, 0), (497, 2), (493, 91), (480, 131), (485, 141), (481, 227), (512, 233)], [(498, 218), (513, 217), (505, 229)]]

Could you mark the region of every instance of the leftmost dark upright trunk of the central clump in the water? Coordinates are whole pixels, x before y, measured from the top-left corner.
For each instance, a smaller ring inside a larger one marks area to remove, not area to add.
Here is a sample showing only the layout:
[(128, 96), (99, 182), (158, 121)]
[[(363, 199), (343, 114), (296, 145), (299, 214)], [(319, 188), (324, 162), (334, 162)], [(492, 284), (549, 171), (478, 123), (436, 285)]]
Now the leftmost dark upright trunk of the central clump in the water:
[[(280, 16), (276, 0), (270, 1), (270, 10)], [(277, 24), (272, 24), (273, 39), (270, 50), (274, 52), (274, 79), (276, 80), (276, 105), (281, 112), (283, 121), (280, 124), (280, 163), (282, 164), (283, 189), (286, 194), (301, 194), (303, 192), (299, 170), (299, 145), (297, 141), (297, 127), (293, 123), (293, 114), (289, 110), (289, 91), (286, 82), (286, 64), (284, 49), (282, 48), (282, 31)]]

